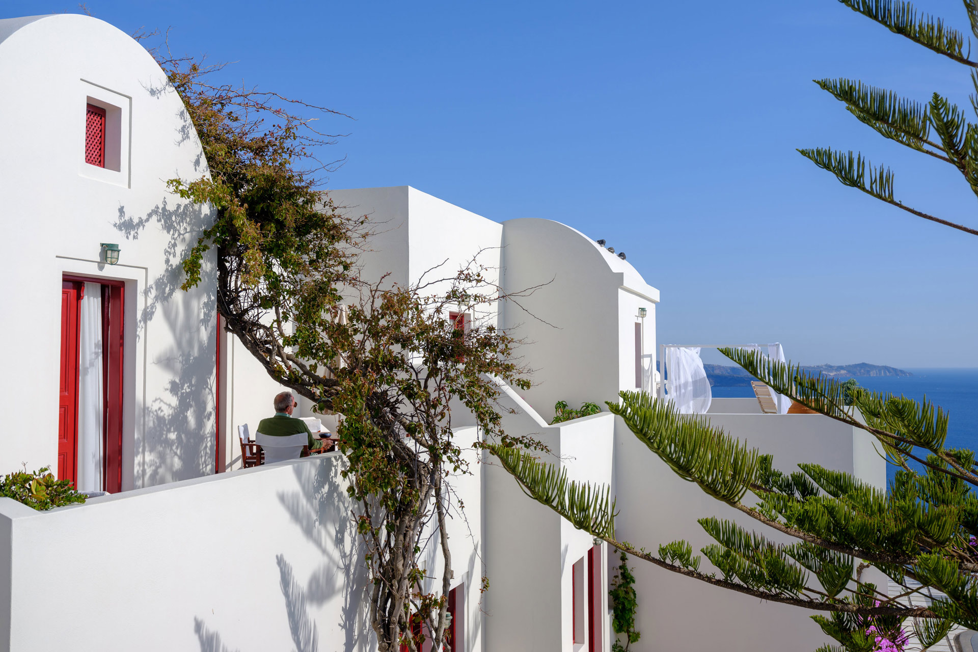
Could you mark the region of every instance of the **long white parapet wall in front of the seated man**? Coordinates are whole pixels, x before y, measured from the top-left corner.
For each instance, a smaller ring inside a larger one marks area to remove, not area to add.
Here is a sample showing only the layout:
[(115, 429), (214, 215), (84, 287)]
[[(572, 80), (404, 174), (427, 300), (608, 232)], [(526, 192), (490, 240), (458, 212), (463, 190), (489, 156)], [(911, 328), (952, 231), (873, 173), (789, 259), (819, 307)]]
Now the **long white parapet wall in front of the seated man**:
[[(0, 499), (0, 652), (376, 649), (345, 463), (312, 456), (46, 512)], [(476, 503), (478, 479), (462, 484)], [(483, 571), (453, 530), (474, 593), (460, 649), (480, 649)]]

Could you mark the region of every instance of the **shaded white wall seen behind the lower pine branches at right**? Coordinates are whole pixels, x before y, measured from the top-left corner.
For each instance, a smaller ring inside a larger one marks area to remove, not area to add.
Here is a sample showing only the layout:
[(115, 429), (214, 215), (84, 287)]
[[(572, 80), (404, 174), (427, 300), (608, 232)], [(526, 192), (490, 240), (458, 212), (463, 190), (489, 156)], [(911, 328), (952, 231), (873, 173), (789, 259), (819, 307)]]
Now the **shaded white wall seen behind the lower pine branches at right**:
[[(782, 471), (798, 470), (799, 462), (814, 462), (855, 472), (875, 486), (884, 486), (885, 462), (871, 454), (866, 432), (820, 414), (752, 413), (756, 403), (754, 399), (719, 400), (717, 409), (732, 412), (713, 413), (711, 409), (710, 421), (762, 453), (773, 455), (775, 466)], [(615, 460), (619, 500), (627, 493), (645, 501), (644, 508), (631, 504), (617, 521), (619, 535), (633, 544), (654, 550), (661, 543), (685, 539), (698, 551), (715, 543), (696, 523), (706, 516), (731, 519), (773, 540), (788, 541), (681, 480), (634, 436), (616, 441)], [(629, 479), (627, 485), (621, 480), (623, 476)], [(829, 640), (809, 618), (813, 612), (759, 602), (641, 560), (633, 560), (631, 566), (637, 578), (636, 626), (643, 634), (639, 649), (810, 652)], [(713, 568), (705, 557), (703, 567), (708, 571)], [(691, 631), (695, 635), (690, 635)]]

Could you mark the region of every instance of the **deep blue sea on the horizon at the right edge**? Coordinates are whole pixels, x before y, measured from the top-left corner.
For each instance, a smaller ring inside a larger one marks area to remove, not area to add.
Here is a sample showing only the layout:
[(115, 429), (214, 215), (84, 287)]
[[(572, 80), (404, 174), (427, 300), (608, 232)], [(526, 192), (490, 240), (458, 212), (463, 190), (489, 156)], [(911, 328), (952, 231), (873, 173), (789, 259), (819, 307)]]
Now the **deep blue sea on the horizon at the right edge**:
[[(906, 369), (911, 376), (856, 376), (863, 387), (876, 392), (903, 394), (920, 400), (924, 396), (950, 414), (948, 448), (978, 449), (978, 369)], [(753, 398), (750, 387), (714, 387), (721, 398)], [(892, 479), (896, 469), (887, 472)]]

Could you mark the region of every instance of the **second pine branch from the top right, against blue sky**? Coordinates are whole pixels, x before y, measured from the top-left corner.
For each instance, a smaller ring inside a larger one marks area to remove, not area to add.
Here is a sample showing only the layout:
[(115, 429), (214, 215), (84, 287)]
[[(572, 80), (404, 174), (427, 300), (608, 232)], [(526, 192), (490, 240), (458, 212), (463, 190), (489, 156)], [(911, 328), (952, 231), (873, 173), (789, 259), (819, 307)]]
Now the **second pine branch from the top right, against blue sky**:
[[(930, 140), (927, 105), (901, 98), (893, 91), (868, 86), (852, 79), (815, 79), (823, 91), (843, 102), (853, 115), (883, 137), (951, 163), (940, 145)], [(938, 152), (928, 150), (933, 148)]]

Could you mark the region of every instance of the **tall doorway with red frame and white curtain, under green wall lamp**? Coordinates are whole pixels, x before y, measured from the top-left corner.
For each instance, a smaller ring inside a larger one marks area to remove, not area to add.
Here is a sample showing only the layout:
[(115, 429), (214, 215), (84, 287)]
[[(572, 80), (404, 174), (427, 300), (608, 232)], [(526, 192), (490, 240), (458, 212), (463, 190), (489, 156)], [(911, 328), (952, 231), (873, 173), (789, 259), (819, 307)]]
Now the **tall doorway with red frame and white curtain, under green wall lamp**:
[(122, 490), (125, 284), (62, 280), (58, 478), (78, 491)]

